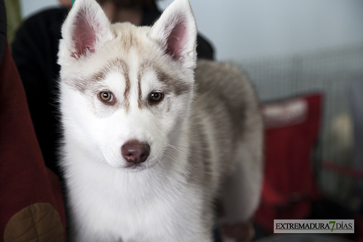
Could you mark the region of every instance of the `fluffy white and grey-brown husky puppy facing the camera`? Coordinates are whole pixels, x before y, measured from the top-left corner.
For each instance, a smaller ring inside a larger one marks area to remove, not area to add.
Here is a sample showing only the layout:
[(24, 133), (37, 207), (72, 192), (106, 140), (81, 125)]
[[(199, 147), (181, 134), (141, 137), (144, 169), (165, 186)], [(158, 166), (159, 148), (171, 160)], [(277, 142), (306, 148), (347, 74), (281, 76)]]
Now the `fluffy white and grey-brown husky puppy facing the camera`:
[(152, 27), (110, 24), (94, 0), (69, 12), (60, 164), (72, 241), (212, 242), (217, 197), (229, 221), (253, 215), (258, 102), (237, 68), (196, 61), (196, 34), (188, 0)]

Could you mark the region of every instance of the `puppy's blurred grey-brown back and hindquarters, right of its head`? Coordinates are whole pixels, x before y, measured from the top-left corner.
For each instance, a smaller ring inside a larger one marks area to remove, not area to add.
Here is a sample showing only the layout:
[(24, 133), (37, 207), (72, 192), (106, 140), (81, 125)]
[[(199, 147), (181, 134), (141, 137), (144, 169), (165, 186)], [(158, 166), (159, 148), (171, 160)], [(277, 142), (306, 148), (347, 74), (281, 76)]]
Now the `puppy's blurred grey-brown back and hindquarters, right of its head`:
[(199, 60), (195, 81), (191, 125), (206, 142), (195, 137), (192, 147), (205, 149), (200, 160), (210, 160), (209, 184), (220, 190), (227, 221), (247, 220), (258, 206), (263, 168), (263, 125), (255, 90), (246, 74), (229, 63)]

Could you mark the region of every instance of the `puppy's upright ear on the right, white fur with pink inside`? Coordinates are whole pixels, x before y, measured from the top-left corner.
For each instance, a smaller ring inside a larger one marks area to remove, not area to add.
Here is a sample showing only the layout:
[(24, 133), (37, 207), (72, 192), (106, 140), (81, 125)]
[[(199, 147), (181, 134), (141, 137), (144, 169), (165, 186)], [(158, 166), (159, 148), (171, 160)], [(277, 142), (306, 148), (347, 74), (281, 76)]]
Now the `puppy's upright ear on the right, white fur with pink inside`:
[(173, 1), (151, 31), (152, 38), (161, 43), (167, 55), (191, 69), (196, 65), (196, 35), (195, 18), (188, 0)]

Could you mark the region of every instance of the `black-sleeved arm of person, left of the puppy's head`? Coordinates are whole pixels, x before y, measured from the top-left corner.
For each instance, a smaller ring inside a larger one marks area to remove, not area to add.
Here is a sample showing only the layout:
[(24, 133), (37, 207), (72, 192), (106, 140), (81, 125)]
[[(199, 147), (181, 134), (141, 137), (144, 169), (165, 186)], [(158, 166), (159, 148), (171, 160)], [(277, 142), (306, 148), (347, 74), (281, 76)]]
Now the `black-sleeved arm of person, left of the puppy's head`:
[(57, 53), (60, 29), (67, 12), (67, 9), (57, 8), (30, 17), (16, 32), (11, 46), (44, 160), (57, 174)]

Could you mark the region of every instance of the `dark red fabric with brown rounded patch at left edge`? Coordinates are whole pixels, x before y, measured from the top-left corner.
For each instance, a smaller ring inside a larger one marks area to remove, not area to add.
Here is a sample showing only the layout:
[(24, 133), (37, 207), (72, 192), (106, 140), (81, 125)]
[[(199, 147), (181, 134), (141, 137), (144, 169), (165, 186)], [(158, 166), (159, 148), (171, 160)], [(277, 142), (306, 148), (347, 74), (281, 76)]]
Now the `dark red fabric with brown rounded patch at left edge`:
[(8, 44), (0, 65), (0, 238), (66, 241), (58, 177), (46, 168)]

